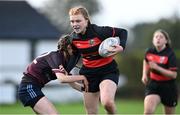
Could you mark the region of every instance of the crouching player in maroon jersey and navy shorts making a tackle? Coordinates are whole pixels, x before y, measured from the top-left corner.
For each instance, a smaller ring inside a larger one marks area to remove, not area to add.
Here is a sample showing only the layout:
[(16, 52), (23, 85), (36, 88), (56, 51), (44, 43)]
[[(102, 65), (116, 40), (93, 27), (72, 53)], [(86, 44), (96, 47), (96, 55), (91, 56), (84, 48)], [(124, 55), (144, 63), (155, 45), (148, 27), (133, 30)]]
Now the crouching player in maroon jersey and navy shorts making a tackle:
[(81, 91), (84, 83), (88, 90), (88, 81), (83, 75), (68, 75), (75, 66), (80, 55), (73, 48), (68, 35), (62, 36), (58, 41), (58, 50), (44, 53), (35, 58), (27, 67), (18, 88), (18, 97), (24, 106), (31, 106), (37, 114), (58, 114), (54, 105), (45, 97), (41, 89), (51, 80), (58, 79)]

